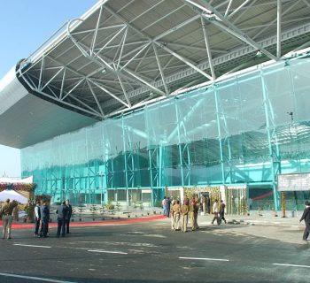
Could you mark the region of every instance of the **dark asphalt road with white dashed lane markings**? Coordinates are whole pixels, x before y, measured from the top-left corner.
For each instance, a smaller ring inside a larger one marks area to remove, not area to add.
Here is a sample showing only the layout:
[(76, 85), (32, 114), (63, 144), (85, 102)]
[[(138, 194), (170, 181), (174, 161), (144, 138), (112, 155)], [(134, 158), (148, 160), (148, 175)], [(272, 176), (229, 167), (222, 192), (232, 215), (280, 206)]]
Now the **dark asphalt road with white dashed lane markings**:
[(209, 220), (188, 233), (171, 230), (169, 218), (72, 227), (64, 238), (54, 227), (45, 239), (16, 229), (0, 241), (0, 282), (309, 282), (302, 226)]

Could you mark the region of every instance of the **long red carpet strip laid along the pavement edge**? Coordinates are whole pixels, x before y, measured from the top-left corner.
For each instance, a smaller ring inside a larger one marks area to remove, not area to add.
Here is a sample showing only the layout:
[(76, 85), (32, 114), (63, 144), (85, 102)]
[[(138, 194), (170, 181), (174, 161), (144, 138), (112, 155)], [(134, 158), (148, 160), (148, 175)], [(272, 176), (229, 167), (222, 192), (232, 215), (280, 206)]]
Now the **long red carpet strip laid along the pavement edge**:
[[(129, 223), (137, 223), (137, 222), (146, 222), (151, 220), (158, 220), (166, 218), (165, 216), (151, 216), (146, 218), (128, 218), (128, 219), (110, 219), (110, 220), (102, 220), (102, 221), (91, 221), (91, 222), (71, 222), (71, 227), (77, 226), (104, 226), (104, 225), (112, 225), (112, 224), (129, 224)], [(2, 226), (2, 221), (0, 220), (0, 225)], [(50, 223), (50, 227), (57, 227), (57, 223)], [(34, 223), (13, 223), (13, 229), (33, 229)]]

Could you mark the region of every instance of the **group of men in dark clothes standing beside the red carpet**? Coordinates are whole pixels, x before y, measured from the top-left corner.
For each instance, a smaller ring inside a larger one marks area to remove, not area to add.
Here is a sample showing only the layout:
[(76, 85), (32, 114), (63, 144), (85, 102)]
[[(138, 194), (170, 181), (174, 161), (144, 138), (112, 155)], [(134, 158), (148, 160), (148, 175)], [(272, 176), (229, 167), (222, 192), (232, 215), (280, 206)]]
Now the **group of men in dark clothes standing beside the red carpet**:
[[(41, 204), (41, 205), (40, 205)], [(72, 216), (72, 205), (69, 200), (63, 201), (56, 210), (57, 213), (57, 233), (65, 237), (66, 233), (70, 233), (70, 219)], [(42, 203), (37, 201), (35, 204), (35, 237), (46, 238), (49, 233), (50, 207), (47, 201)], [(40, 228), (41, 227), (41, 228)]]

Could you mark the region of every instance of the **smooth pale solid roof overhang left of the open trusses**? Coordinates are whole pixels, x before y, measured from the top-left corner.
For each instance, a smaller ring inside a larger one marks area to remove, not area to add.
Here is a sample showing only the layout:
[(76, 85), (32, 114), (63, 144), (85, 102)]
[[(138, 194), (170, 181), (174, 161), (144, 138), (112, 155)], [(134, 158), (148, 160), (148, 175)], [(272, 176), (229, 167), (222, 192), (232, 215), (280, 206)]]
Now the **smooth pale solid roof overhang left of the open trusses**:
[(28, 93), (15, 69), (0, 81), (0, 101), (0, 144), (12, 148), (22, 149), (97, 121)]

